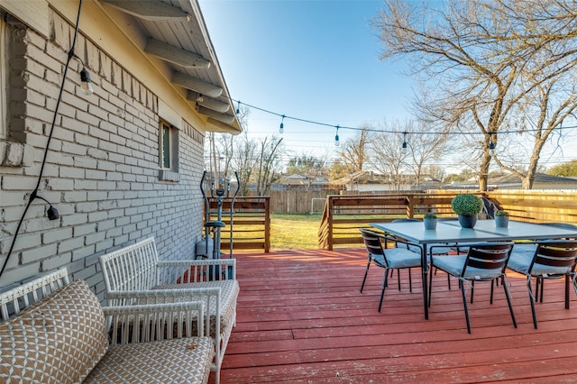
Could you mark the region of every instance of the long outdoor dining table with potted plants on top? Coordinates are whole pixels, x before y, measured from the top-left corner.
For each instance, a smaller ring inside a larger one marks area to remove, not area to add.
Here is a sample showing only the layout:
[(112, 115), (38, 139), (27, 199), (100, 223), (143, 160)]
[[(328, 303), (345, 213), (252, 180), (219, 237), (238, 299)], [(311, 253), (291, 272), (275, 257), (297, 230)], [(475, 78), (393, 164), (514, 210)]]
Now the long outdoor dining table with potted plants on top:
[(423, 270), (423, 307), (425, 318), (429, 318), (427, 301), (427, 248), (439, 244), (472, 242), (501, 242), (514, 240), (545, 240), (577, 238), (577, 230), (553, 225), (531, 224), (509, 221), (507, 228), (498, 228), (494, 220), (478, 220), (474, 228), (462, 228), (457, 220), (439, 221), (435, 230), (426, 230), (423, 222), (371, 223), (372, 227), (385, 233), (392, 233), (421, 247), (421, 268)]

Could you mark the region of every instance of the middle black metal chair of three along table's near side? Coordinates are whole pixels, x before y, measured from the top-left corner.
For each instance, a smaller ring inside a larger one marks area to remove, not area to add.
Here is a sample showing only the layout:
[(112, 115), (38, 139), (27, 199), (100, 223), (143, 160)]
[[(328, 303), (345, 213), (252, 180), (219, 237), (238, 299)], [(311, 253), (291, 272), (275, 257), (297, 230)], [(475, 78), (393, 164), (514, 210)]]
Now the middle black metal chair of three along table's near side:
[[(469, 321), (469, 311), (467, 308), (466, 286), (471, 285), (471, 297), (473, 295), (473, 283), (475, 281), (490, 281), (490, 304), (493, 304), (493, 283), (496, 279), (505, 278), (505, 269), (513, 242), (483, 242), (479, 244), (468, 244), (469, 251), (467, 255), (456, 256), (432, 256), (431, 267), (444, 270), (449, 275), (459, 279), (461, 292), (463, 294), (463, 307), (465, 319), (467, 321), (467, 332), (471, 334), (471, 323)], [(507, 284), (502, 284), (507, 297), (508, 309), (511, 313), (513, 325), (517, 328), (517, 321), (511, 306), (511, 298), (508, 292)], [(433, 292), (433, 275), (429, 280), (429, 306)]]

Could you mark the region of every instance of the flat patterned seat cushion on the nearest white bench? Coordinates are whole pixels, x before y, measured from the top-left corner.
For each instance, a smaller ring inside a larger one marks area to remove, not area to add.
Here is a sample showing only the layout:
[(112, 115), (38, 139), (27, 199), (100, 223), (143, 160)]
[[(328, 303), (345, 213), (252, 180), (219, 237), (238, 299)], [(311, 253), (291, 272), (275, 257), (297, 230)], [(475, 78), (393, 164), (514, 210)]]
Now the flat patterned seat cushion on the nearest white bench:
[(203, 383), (215, 345), (208, 337), (111, 346), (85, 383)]

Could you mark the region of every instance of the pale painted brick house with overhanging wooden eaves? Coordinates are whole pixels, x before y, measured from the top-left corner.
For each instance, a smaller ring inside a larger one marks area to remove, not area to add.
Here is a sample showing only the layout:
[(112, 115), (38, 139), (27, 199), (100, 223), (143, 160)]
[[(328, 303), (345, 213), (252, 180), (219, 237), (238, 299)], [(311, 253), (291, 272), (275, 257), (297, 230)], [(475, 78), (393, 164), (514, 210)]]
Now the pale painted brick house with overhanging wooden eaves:
[[(97, 257), (149, 236), (194, 256), (207, 131), (239, 133), (196, 0), (0, 0), (0, 290), (68, 267), (104, 298)], [(94, 94), (80, 92), (89, 71)]]

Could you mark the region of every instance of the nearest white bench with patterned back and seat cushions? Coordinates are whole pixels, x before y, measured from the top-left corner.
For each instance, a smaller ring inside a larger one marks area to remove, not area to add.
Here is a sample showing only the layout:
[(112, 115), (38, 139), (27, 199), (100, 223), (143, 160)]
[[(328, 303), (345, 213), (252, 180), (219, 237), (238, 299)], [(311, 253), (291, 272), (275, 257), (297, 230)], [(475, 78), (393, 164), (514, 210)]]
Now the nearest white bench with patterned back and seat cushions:
[(214, 359), (202, 301), (103, 308), (66, 269), (0, 294), (0, 314), (0, 382), (200, 384)]

